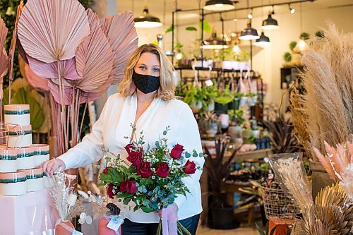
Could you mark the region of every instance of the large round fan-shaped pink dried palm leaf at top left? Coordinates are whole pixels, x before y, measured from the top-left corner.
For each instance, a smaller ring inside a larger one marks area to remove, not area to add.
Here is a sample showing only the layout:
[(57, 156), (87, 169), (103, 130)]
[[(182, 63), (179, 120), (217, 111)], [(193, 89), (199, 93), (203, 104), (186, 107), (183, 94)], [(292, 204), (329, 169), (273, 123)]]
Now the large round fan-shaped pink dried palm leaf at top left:
[(88, 16), (77, 0), (30, 0), (18, 21), (25, 52), (46, 63), (73, 58), (89, 34)]

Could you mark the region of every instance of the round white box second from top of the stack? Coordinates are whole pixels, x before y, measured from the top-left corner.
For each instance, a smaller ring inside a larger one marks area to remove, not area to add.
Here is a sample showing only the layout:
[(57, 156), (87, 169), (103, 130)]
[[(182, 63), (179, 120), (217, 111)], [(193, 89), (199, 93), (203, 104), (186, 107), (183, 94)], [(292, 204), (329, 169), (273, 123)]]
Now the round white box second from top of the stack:
[(27, 147), (32, 145), (32, 126), (13, 126), (8, 131), (9, 147)]

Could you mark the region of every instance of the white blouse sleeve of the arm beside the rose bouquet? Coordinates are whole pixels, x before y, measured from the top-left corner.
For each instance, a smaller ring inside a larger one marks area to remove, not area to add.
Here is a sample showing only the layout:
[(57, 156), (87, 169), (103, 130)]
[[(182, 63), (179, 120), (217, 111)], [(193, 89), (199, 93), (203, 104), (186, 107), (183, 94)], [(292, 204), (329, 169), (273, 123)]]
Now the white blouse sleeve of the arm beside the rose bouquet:
[[(198, 131), (198, 124), (196, 122), (195, 117), (193, 116), (193, 112), (191, 111), (190, 107), (185, 104), (184, 107), (181, 108), (181, 112), (178, 118), (178, 125), (177, 125), (177, 143), (179, 145), (183, 145), (186, 152), (191, 153), (191, 157), (188, 159), (190, 161), (195, 162), (196, 167), (203, 168), (203, 164), (205, 163), (205, 159), (203, 157), (192, 157), (193, 150), (196, 152), (203, 152), (202, 145), (201, 145), (201, 137)], [(188, 159), (183, 159), (183, 164), (186, 163)], [(199, 183), (202, 170), (196, 169), (194, 174), (191, 174), (190, 177), (185, 177), (182, 181), (186, 184), (186, 186), (191, 189), (196, 184)], [(181, 205), (186, 201), (188, 193), (186, 193), (186, 197), (184, 195), (178, 195), (175, 198), (175, 203), (177, 204), (178, 208), (181, 208)]]

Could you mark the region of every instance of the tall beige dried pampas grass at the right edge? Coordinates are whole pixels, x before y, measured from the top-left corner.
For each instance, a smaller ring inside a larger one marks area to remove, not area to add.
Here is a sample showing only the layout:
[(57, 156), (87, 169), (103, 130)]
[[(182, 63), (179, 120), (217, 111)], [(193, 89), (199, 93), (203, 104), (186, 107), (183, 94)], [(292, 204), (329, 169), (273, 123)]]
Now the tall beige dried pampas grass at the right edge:
[[(306, 94), (292, 109), (304, 114), (306, 128), (297, 129), (307, 129), (311, 145), (321, 152), (324, 140), (335, 145), (353, 132), (353, 35), (339, 32), (331, 22), (323, 32), (325, 36), (311, 40), (311, 49), (302, 57)], [(312, 149), (311, 155), (315, 158)]]

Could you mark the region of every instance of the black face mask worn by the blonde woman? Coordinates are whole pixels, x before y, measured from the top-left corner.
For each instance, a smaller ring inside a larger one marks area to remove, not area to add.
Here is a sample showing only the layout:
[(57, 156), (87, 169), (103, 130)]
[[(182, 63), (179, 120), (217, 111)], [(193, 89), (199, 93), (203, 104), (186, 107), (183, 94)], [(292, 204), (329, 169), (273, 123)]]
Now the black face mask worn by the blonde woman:
[(160, 88), (160, 77), (138, 74), (133, 71), (133, 83), (135, 83), (136, 88), (141, 92), (148, 94), (154, 92)]

